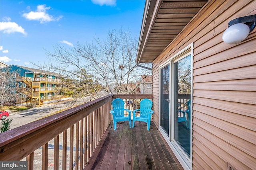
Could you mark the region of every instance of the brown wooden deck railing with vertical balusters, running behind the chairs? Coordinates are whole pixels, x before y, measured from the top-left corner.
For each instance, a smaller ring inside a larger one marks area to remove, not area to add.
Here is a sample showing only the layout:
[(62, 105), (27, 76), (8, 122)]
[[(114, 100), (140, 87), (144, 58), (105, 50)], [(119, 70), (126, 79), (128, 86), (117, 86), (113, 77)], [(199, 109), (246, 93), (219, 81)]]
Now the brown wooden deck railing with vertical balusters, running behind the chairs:
[(113, 98), (137, 101), (152, 94), (110, 94), (0, 133), (0, 160), (26, 160), (29, 170), (84, 169), (112, 121)]

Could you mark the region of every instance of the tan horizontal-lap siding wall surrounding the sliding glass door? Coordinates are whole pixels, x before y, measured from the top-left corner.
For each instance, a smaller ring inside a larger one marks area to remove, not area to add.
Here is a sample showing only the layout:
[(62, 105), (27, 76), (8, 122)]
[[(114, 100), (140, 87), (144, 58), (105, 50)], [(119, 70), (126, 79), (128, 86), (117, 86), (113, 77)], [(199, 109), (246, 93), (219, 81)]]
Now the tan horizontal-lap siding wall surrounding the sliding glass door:
[(256, 29), (228, 45), (228, 22), (256, 14), (255, 0), (212, 0), (153, 62), (153, 121), (159, 125), (159, 65), (193, 48), (192, 168), (256, 167)]

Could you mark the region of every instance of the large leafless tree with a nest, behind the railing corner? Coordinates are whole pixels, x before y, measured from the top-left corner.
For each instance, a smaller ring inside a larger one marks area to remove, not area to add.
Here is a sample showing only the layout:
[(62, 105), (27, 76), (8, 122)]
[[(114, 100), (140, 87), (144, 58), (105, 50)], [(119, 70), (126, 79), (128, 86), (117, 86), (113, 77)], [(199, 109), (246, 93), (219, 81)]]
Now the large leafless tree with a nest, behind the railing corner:
[[(49, 63), (36, 66), (58, 71), (73, 81), (76, 96), (137, 93), (142, 82), (140, 75), (148, 75), (149, 70), (136, 66), (137, 38), (129, 31), (110, 30), (104, 41), (94, 38), (92, 43), (77, 43), (66, 49), (54, 45), (54, 51), (47, 51)], [(80, 90), (78, 90), (80, 89)], [(76, 91), (75, 91), (76, 90)]]

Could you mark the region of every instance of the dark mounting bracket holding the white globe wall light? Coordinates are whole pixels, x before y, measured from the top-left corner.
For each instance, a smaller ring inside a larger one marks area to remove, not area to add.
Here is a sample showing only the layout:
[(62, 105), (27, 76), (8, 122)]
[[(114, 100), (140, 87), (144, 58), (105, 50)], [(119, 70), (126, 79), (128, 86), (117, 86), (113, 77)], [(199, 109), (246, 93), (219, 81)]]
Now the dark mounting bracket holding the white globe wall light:
[(256, 26), (256, 15), (236, 18), (228, 23), (228, 27), (230, 27), (231, 25), (234, 25), (236, 23), (244, 23), (244, 24), (248, 25), (250, 32), (251, 32)]

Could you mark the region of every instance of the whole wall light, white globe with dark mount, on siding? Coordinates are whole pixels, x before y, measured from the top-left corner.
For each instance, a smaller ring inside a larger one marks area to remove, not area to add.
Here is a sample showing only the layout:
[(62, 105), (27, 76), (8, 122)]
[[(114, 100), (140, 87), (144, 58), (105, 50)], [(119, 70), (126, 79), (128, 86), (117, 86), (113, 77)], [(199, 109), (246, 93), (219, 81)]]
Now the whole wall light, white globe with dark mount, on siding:
[(228, 23), (222, 39), (227, 44), (240, 43), (256, 26), (256, 15), (236, 18)]

